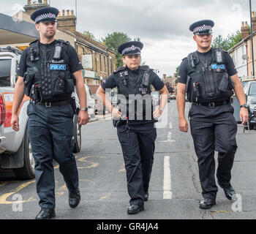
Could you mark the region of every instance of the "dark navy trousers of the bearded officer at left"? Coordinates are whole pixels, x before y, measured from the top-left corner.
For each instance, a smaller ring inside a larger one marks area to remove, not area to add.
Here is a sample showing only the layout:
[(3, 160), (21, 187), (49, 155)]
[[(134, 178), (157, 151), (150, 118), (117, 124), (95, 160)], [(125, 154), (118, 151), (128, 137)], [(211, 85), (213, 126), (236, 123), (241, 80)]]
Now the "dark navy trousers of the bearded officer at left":
[(67, 189), (75, 192), (78, 188), (78, 168), (72, 154), (73, 110), (70, 104), (45, 107), (30, 103), (27, 113), (39, 205), (55, 208), (53, 159), (59, 163)]

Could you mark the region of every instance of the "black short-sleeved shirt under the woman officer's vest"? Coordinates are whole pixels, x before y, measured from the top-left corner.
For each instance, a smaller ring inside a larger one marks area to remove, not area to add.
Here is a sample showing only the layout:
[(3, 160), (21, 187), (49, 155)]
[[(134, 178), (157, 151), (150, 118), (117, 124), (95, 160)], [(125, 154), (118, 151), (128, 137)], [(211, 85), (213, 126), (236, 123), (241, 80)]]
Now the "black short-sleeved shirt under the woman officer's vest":
[[(134, 77), (140, 74), (140, 67), (136, 70), (131, 70), (127, 67), (127, 70), (129, 72), (129, 76), (131, 77)], [(119, 79), (118, 73), (113, 73), (105, 80), (104, 83), (102, 83), (102, 88), (104, 90), (106, 88), (115, 88), (116, 86), (118, 86), (118, 79)], [(159, 91), (165, 86), (165, 84), (162, 82), (159, 76), (152, 70), (150, 70), (149, 72), (149, 83), (151, 83), (152, 86), (154, 86), (154, 89), (157, 91)]]

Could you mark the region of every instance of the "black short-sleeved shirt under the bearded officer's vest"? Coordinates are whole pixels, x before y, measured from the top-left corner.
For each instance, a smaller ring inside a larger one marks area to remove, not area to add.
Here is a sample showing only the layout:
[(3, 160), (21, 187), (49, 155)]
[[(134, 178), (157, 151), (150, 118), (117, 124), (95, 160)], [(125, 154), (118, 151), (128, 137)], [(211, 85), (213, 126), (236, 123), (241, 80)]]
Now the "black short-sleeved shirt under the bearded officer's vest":
[[(39, 42), (39, 46), (42, 50), (54, 50), (55, 41), (51, 42), (50, 44), (42, 44)], [(26, 48), (26, 50), (23, 51), (20, 57), (20, 64), (17, 69), (17, 75), (22, 77), (24, 76), (24, 73), (26, 72), (26, 58), (29, 56), (29, 48)], [(75, 51), (75, 48), (72, 47), (72, 45), (69, 45), (67, 48), (67, 55), (69, 57), (69, 67), (72, 73), (77, 72), (80, 69), (83, 69), (82, 64), (80, 63), (80, 60), (78, 58), (78, 53)]]

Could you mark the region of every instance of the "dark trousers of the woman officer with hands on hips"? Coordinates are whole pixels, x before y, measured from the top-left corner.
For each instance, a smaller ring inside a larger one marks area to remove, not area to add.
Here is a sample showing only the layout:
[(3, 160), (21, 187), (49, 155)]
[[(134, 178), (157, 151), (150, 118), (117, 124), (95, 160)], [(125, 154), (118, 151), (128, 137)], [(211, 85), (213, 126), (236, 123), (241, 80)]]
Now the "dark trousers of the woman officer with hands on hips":
[(129, 124), (127, 132), (126, 125), (123, 123), (117, 127), (117, 135), (127, 170), (127, 189), (131, 197), (129, 203), (143, 205), (154, 162), (157, 129), (154, 123)]

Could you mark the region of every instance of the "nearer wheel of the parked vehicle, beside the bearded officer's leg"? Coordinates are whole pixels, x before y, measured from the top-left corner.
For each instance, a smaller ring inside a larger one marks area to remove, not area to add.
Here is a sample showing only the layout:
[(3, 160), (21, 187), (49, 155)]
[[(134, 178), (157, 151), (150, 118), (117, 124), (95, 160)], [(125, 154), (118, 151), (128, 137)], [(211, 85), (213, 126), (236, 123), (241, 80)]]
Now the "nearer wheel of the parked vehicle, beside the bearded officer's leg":
[(32, 154), (31, 142), (29, 140), (29, 131), (26, 127), (23, 141), (16, 153), (18, 157), (24, 154), (24, 165), (21, 168), (13, 169), (13, 173), (20, 179), (31, 179), (34, 178), (34, 156)]

